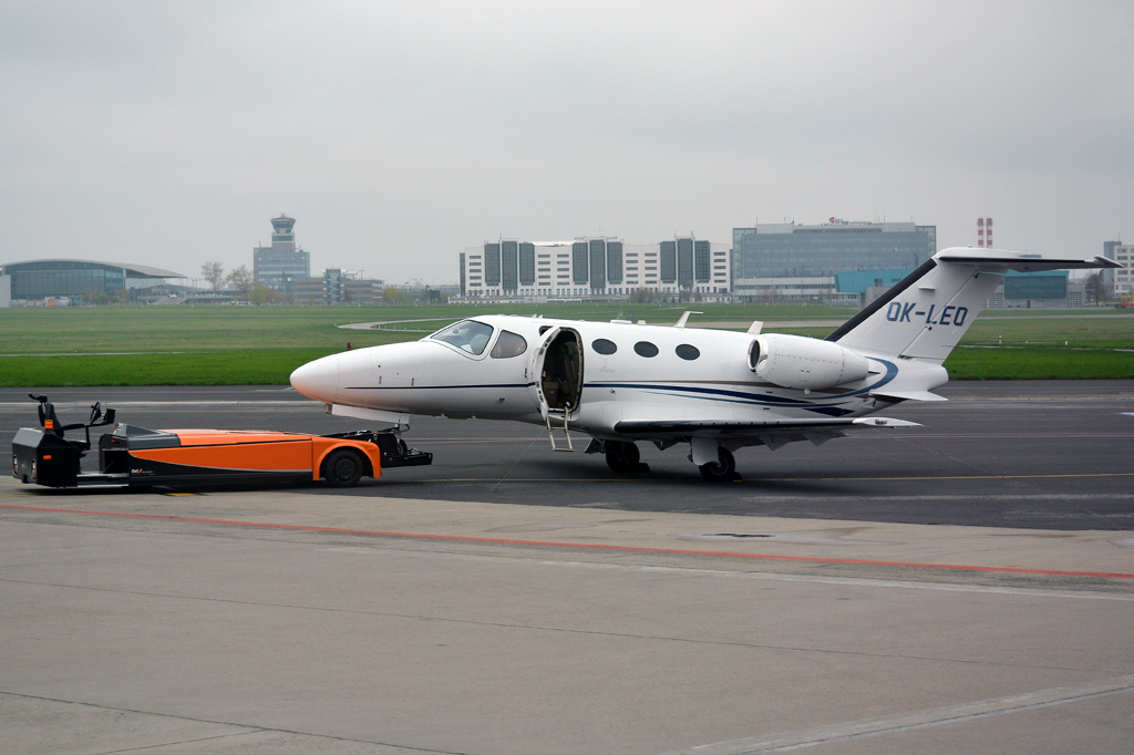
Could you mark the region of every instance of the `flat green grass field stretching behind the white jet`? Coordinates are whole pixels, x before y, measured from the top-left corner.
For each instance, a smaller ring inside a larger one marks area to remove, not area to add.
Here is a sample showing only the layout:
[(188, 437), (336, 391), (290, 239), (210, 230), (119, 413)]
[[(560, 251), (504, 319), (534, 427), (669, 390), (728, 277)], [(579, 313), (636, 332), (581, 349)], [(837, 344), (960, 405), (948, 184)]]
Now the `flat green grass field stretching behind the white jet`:
[[(543, 314), (573, 320), (634, 319), (691, 324), (753, 320), (768, 332), (824, 337), (830, 326), (777, 322), (845, 320), (849, 309), (787, 305), (586, 304), (482, 307), (101, 307), (0, 309), (0, 385), (284, 384), (305, 362), (353, 347), (413, 340), (471, 314)], [(946, 367), (954, 380), (1134, 378), (1134, 319), (1075, 317), (1107, 309), (982, 313)], [(391, 323), (344, 330), (352, 322)], [(1126, 350), (1124, 350), (1126, 349)]]

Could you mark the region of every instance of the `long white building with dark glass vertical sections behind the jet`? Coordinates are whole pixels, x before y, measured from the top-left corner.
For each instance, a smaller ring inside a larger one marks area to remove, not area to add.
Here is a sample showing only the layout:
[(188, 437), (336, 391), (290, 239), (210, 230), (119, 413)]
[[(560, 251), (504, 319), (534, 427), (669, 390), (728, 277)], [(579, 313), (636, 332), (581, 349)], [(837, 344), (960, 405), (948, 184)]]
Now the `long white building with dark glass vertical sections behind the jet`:
[(658, 244), (610, 237), (570, 241), (500, 239), (460, 255), (468, 300), (628, 299), (644, 289), (666, 297), (728, 300), (729, 247), (693, 236)]

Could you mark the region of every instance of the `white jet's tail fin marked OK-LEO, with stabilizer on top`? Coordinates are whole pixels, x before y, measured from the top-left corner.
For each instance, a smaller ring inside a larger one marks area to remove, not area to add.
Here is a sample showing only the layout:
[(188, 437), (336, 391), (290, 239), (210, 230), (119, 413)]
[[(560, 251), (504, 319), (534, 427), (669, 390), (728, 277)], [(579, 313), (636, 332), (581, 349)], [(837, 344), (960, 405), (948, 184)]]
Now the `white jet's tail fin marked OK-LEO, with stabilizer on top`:
[(1044, 260), (1000, 249), (945, 249), (827, 337), (863, 351), (941, 364), (1009, 270), (1114, 268), (1103, 257)]

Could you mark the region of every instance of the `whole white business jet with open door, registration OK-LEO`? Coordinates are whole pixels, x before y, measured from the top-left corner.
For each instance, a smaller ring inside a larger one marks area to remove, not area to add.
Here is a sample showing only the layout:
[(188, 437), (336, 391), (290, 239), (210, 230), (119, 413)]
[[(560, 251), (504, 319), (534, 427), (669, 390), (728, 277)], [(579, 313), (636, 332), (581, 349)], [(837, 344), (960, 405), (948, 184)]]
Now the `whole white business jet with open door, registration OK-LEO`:
[(589, 435), (615, 472), (646, 472), (637, 441), (689, 444), (710, 482), (736, 478), (746, 446), (819, 446), (906, 400), (943, 401), (941, 363), (1009, 270), (1117, 268), (1103, 257), (1050, 260), (950, 248), (913, 271), (826, 339), (629, 321), (476, 316), (420, 341), (345, 351), (291, 373), (331, 414), (408, 427), (409, 415), (515, 419), (548, 429), (551, 447)]

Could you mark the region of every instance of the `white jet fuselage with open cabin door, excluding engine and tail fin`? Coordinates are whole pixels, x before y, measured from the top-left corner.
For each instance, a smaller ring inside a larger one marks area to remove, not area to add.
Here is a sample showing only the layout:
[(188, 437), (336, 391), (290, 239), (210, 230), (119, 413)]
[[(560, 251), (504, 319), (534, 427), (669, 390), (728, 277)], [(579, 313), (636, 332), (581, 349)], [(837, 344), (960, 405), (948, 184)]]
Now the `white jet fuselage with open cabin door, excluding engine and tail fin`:
[[(655, 433), (617, 425), (864, 416), (892, 404), (871, 391), (898, 375), (892, 357), (868, 357), (864, 380), (789, 389), (754, 374), (750, 333), (506, 315), (471, 321), (492, 332), (482, 342), (448, 342), (439, 331), (420, 341), (336, 354), (297, 370), (293, 384), (327, 404), (405, 414), (533, 424), (545, 424), (549, 412), (566, 414), (573, 429), (595, 438), (635, 440)], [(506, 339), (511, 348), (498, 348)], [(936, 370), (941, 384), (943, 370)]]

